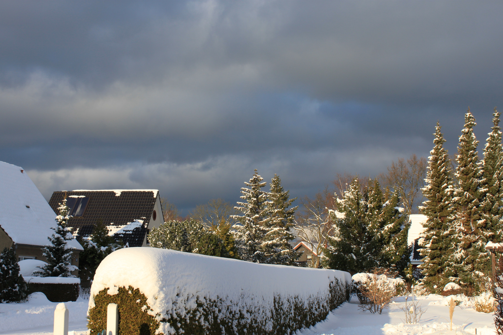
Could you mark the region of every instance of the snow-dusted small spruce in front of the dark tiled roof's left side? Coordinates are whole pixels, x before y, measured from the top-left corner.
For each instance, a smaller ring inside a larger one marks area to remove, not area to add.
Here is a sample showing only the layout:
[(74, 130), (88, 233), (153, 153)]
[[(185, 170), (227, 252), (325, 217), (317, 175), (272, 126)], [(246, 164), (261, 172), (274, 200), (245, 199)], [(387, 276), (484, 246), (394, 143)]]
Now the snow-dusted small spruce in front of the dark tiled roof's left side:
[(66, 241), (73, 239), (70, 234), (71, 229), (67, 227), (68, 206), (66, 206), (66, 197), (63, 203), (59, 204), (59, 215), (56, 216), (56, 228), (51, 227), (54, 231), (51, 237), (47, 239), (51, 242), (50, 245), (42, 248), (42, 255), (47, 259), (45, 265), (40, 271), (35, 272), (42, 277), (75, 277), (71, 271), (78, 270), (74, 265), (71, 265), (71, 251), (74, 248), (69, 248)]

